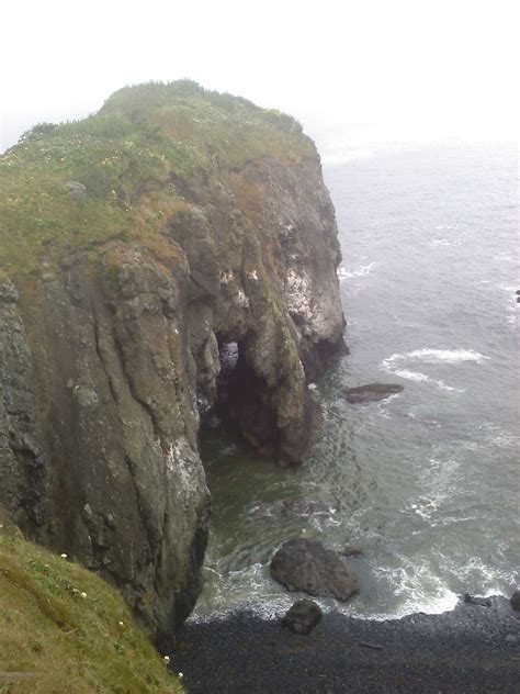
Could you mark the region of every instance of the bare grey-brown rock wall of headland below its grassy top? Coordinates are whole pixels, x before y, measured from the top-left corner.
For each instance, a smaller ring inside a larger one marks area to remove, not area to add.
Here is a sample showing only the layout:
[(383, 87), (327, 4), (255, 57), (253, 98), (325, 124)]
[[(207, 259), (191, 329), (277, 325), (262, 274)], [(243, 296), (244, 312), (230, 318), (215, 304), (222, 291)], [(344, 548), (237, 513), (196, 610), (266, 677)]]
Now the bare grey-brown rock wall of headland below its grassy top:
[(281, 464), (308, 452), (307, 382), (342, 346), (319, 159), (248, 161), (183, 189), (154, 244), (65, 248), (0, 282), (0, 503), (115, 583), (158, 639), (194, 605), (210, 499), (199, 408), (236, 342), (229, 407)]

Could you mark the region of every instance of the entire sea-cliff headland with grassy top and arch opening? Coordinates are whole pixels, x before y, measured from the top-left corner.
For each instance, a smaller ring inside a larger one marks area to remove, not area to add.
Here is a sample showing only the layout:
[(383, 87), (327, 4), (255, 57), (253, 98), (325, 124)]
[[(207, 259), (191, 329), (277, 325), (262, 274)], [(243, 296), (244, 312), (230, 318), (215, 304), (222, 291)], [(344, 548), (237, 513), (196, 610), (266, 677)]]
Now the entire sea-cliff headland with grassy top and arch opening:
[(199, 592), (219, 347), (238, 346), (244, 435), (301, 461), (308, 379), (342, 345), (337, 231), (287, 116), (182, 83), (123, 90), (89, 121), (2, 157), (0, 504), (161, 638)]

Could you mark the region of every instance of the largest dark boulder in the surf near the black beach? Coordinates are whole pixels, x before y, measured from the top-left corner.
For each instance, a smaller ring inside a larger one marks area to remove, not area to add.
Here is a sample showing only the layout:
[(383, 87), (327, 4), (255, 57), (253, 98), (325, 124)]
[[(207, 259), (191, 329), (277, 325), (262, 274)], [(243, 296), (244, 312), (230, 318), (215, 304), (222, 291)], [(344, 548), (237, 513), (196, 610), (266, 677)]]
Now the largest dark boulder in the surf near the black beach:
[(359, 584), (338, 555), (316, 540), (284, 542), (271, 560), (271, 577), (290, 591), (347, 602)]

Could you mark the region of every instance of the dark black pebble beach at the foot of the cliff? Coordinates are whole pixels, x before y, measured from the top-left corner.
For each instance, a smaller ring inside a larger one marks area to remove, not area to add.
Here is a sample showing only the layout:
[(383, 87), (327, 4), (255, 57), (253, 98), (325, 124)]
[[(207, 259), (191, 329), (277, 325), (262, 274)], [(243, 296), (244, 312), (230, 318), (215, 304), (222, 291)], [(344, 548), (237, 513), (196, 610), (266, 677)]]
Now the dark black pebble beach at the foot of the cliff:
[(280, 618), (241, 609), (188, 620), (172, 670), (194, 694), (520, 691), (520, 613), (501, 596), (386, 622), (332, 611), (308, 636)]

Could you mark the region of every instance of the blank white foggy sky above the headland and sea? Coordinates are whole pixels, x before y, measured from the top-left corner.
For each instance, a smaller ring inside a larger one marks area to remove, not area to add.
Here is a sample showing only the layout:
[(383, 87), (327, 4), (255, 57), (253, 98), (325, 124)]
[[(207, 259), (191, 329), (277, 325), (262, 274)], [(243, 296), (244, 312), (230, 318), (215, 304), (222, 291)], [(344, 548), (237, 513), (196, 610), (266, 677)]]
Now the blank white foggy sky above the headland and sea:
[(0, 150), (125, 85), (189, 77), (313, 134), (518, 137), (516, 0), (4, 0)]

